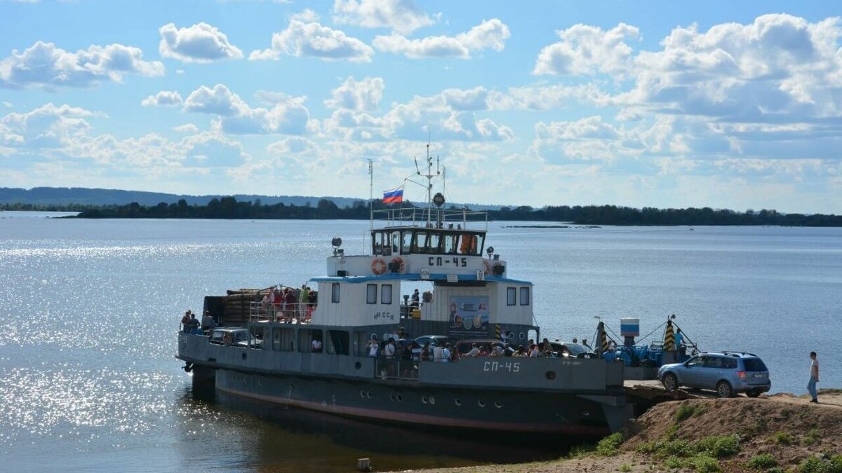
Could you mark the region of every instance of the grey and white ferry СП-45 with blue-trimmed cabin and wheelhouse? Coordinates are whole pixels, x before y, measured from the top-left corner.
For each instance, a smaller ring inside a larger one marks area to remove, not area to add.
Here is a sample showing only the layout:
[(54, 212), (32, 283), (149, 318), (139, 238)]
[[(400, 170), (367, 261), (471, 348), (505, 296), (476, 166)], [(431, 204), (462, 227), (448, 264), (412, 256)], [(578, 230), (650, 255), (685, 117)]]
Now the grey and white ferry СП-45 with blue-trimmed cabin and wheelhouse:
[[(218, 391), (348, 417), (530, 434), (619, 430), (632, 417), (624, 366), (599, 349), (594, 358), (442, 362), (387, 358), (382, 347), (369, 356), (373, 336), (381, 344), (406, 333), (453, 344), (541, 340), (533, 284), (510, 277), (509, 262), (487, 245), (487, 217), (444, 210), (441, 194), (429, 200), (426, 209), (372, 216), (370, 254), (345, 254), (338, 238), (332, 251), (326, 245), (326, 274), (311, 279), (317, 303), (279, 307), (267, 291), (237, 295), (246, 336), (235, 339), (231, 327), (180, 332), (184, 369)], [(400, 297), (418, 282), (432, 286), (418, 303)], [(216, 320), (225, 318), (225, 297), (205, 297)]]

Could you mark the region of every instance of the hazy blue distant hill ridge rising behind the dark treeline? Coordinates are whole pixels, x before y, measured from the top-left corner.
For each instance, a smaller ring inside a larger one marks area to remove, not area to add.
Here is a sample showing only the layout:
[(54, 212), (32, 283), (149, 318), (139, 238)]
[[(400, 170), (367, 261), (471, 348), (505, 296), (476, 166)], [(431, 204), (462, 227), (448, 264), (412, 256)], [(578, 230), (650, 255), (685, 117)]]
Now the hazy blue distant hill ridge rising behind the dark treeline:
[[(187, 201), (188, 205), (207, 205), (211, 199), (221, 199), (228, 194), (186, 195), (164, 194), (160, 192), (143, 192), (139, 190), (120, 189), (88, 189), (82, 187), (34, 187), (32, 189), (0, 188), (0, 204), (31, 204), (31, 205), (127, 205), (137, 202), (140, 205), (157, 205), (161, 202), (174, 204), (179, 199)], [(260, 200), (265, 205), (310, 205), (315, 207), (320, 199), (332, 200), (338, 207), (349, 207), (355, 201), (368, 199), (354, 199), (350, 197), (306, 196), (306, 195), (254, 195), (234, 194), (238, 202)], [(459, 205), (459, 204), (450, 204)], [(498, 209), (498, 205), (469, 204), (475, 210)]]

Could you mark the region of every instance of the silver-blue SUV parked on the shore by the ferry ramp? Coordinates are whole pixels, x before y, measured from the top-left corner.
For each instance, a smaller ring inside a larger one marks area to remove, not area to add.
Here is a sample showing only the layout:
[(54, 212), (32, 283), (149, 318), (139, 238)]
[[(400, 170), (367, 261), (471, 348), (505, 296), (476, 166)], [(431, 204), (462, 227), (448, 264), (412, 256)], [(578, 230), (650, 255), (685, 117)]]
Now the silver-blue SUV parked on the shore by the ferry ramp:
[(667, 391), (679, 386), (715, 390), (722, 397), (744, 392), (750, 397), (769, 391), (769, 369), (754, 353), (700, 353), (684, 363), (664, 364), (658, 380)]

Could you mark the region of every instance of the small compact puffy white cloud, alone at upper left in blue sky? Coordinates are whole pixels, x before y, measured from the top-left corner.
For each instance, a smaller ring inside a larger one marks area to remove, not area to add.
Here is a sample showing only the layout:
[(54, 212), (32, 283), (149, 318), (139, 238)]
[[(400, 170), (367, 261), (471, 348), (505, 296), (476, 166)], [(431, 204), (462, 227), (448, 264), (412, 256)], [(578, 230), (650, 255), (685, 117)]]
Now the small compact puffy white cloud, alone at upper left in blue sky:
[(158, 29), (158, 33), (161, 35), (158, 51), (163, 57), (184, 62), (242, 58), (242, 50), (229, 43), (228, 37), (210, 24), (199, 23), (177, 29), (175, 24), (170, 23)]

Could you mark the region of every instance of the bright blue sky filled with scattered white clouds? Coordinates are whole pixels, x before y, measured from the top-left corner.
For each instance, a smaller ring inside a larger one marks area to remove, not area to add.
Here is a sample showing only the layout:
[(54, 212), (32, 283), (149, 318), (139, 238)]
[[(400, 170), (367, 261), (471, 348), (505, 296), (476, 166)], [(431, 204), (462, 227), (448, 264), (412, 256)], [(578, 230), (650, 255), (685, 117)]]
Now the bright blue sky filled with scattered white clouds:
[(0, 0), (0, 187), (839, 214), (839, 14)]

